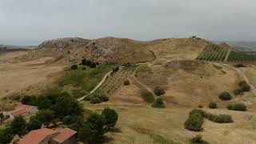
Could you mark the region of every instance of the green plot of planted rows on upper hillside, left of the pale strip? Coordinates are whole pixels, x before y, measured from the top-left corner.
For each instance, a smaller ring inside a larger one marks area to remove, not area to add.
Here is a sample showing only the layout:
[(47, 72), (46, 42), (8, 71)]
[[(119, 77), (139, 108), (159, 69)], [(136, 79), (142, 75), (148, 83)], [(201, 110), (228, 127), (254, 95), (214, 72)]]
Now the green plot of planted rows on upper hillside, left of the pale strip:
[(226, 58), (227, 49), (217, 46), (217, 45), (208, 45), (198, 56), (198, 60), (202, 61), (221, 61), (223, 62)]

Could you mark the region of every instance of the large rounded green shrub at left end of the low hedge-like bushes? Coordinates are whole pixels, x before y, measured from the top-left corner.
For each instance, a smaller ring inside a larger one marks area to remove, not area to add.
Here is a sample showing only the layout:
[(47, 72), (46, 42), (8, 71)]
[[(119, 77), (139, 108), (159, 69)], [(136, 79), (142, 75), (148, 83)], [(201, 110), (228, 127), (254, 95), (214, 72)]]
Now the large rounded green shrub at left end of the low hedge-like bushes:
[(203, 114), (202, 110), (192, 110), (189, 118), (184, 122), (186, 130), (200, 131), (202, 130)]

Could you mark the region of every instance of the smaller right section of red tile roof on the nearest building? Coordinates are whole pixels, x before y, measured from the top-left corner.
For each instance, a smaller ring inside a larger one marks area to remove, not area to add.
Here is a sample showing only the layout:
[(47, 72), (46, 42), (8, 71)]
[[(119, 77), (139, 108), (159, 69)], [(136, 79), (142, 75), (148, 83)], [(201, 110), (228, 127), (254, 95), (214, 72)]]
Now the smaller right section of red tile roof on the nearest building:
[(57, 142), (65, 142), (68, 138), (72, 137), (74, 134), (77, 134), (76, 131), (71, 130), (69, 128), (61, 130), (59, 132), (60, 134), (53, 138)]

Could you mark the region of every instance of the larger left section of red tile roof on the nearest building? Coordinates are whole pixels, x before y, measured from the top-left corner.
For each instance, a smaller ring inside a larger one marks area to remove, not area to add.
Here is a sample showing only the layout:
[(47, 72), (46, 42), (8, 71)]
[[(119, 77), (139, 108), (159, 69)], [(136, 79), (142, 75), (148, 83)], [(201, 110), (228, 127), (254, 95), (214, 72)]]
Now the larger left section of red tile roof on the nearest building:
[(37, 144), (46, 138), (46, 136), (56, 133), (58, 133), (58, 131), (46, 128), (32, 130), (29, 134), (26, 134), (21, 140), (19, 140), (18, 144)]

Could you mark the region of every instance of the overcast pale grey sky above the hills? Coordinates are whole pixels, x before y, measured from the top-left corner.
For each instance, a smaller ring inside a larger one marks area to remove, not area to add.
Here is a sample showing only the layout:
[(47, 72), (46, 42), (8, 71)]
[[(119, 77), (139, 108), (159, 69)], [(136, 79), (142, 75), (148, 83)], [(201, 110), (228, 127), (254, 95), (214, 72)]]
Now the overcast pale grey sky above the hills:
[(0, 43), (50, 38), (256, 39), (255, 0), (0, 0)]

